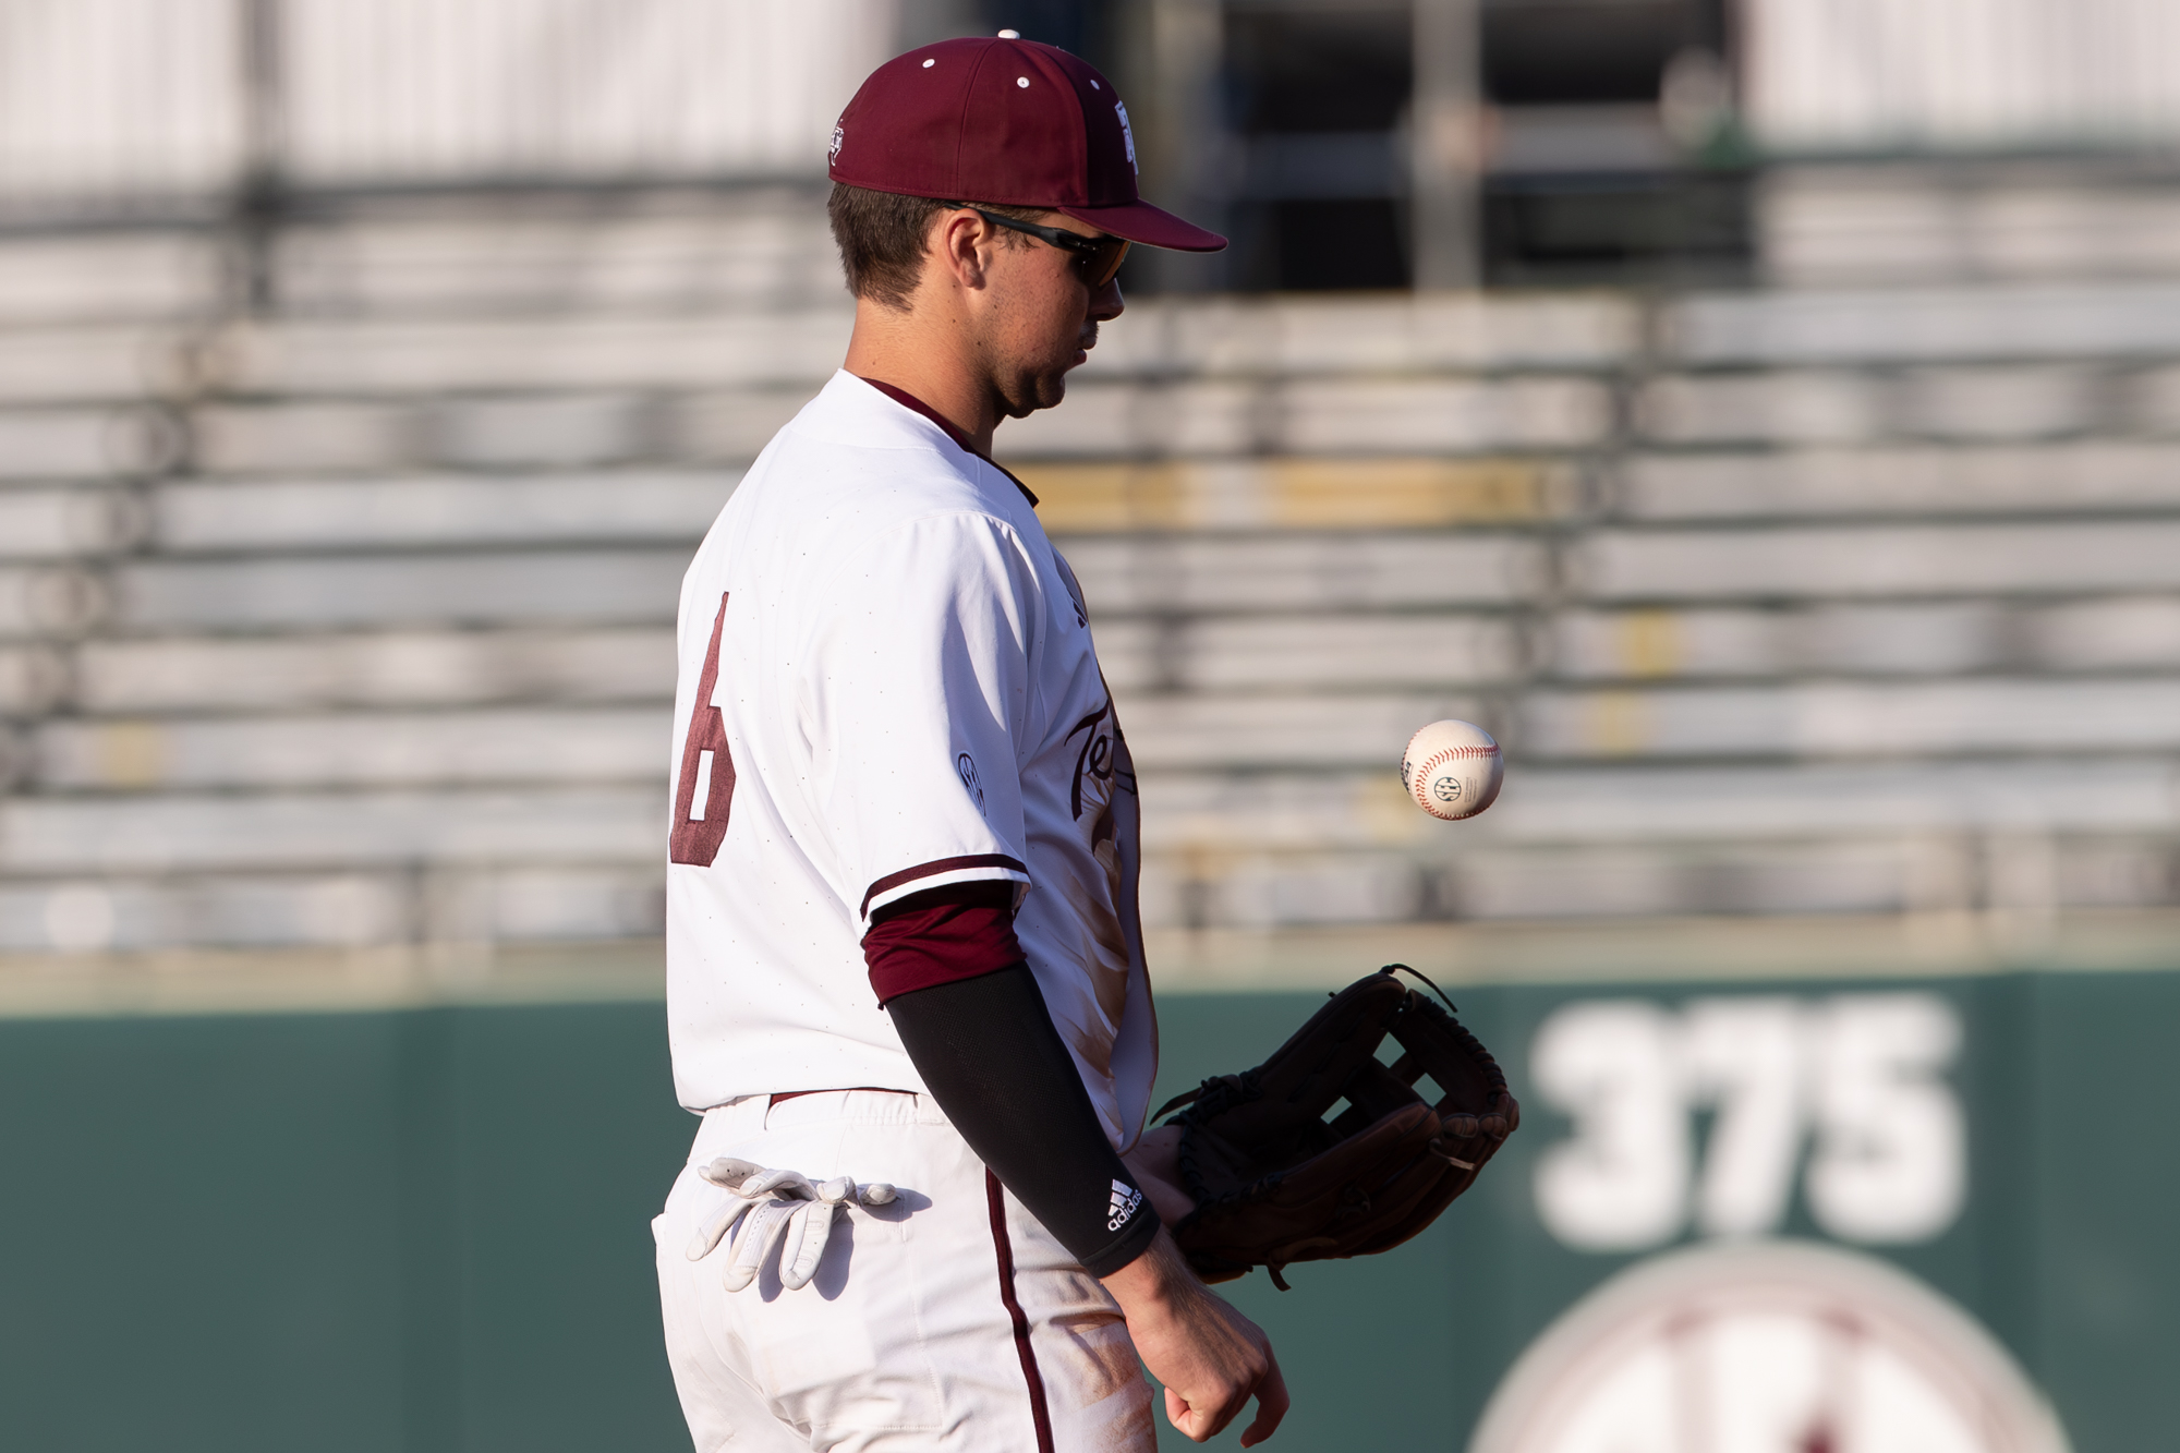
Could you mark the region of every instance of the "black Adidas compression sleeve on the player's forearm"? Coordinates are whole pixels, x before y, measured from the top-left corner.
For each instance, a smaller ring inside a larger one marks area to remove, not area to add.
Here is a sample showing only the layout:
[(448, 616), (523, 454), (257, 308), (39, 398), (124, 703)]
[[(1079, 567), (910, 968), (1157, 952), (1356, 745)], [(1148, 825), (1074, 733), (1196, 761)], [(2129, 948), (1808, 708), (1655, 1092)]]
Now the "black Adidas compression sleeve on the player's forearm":
[(885, 1004), (968, 1148), (1092, 1276), (1158, 1235), (1158, 1211), (1114, 1154), (1029, 964)]

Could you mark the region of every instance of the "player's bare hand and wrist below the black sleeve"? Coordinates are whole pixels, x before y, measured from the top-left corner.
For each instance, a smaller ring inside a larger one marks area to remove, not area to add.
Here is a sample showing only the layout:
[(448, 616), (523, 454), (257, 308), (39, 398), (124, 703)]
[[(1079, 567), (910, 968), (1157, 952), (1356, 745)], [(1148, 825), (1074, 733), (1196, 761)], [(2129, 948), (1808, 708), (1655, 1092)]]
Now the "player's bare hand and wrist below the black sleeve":
[(1105, 1278), (1151, 1377), (1166, 1385), (1166, 1420), (1206, 1442), (1256, 1398), (1240, 1446), (1271, 1438), (1286, 1416), (1286, 1379), (1271, 1340), (1197, 1281), (1160, 1228), (1151, 1250)]

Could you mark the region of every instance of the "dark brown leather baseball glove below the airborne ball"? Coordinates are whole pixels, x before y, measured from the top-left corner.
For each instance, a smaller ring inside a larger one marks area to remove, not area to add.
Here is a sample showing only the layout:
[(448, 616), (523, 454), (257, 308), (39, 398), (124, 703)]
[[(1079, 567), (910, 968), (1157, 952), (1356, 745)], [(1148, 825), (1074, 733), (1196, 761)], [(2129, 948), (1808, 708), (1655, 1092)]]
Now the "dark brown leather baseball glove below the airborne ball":
[[(1206, 1080), (1158, 1110), (1188, 1106), (1166, 1124), (1182, 1126), (1182, 1185), (1197, 1209), (1173, 1239), (1203, 1281), (1264, 1265), (1286, 1292), (1280, 1272), (1293, 1261), (1400, 1246), (1469, 1189), (1522, 1124), (1491, 1052), (1395, 971), (1424, 980), (1386, 964), (1332, 995), (1256, 1069)], [(1386, 1036), (1402, 1049), (1391, 1067), (1378, 1056)], [(1424, 1076), (1439, 1086), (1434, 1106), (1415, 1091)]]

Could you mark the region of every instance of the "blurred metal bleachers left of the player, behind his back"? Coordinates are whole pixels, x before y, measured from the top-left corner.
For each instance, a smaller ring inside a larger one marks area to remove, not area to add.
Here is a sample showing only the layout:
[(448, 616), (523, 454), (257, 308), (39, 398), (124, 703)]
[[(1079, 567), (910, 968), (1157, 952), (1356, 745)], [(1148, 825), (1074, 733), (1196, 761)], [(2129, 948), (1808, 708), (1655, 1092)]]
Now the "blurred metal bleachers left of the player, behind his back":
[(656, 932), (678, 578), (846, 338), (807, 203), (299, 227), (277, 316), (0, 244), (0, 945)]

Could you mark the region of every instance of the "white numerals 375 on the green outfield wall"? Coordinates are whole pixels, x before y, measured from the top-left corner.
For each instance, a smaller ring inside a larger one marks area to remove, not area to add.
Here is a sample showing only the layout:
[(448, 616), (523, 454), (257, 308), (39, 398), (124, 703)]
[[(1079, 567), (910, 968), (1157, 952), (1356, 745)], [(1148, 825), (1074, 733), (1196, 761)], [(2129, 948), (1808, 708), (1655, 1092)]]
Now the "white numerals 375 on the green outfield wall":
[(1931, 993), (1565, 1004), (1528, 1060), (1572, 1121), (1537, 1156), (1537, 1215), (1572, 1250), (1633, 1252), (1775, 1233), (1799, 1187), (1836, 1239), (1929, 1241), (1966, 1198), (1960, 1054)]

